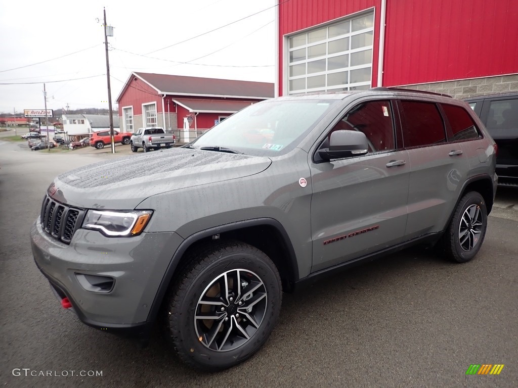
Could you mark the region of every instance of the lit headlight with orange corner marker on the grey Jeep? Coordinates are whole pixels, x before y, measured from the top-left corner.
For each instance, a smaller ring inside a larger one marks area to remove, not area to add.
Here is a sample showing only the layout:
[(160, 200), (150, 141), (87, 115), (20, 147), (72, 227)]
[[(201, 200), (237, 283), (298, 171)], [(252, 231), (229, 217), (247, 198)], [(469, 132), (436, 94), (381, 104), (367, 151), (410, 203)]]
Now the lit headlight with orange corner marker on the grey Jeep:
[(136, 236), (146, 227), (153, 214), (150, 210), (113, 212), (89, 210), (82, 228), (94, 229), (107, 236)]

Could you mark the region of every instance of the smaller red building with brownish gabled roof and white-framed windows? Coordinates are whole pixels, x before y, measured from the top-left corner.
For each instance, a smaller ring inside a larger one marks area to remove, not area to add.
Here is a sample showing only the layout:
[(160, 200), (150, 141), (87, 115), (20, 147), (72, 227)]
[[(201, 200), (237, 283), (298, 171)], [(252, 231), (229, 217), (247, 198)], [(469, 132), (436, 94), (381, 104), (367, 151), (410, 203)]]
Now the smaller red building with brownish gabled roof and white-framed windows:
[(120, 128), (163, 127), (189, 142), (229, 115), (274, 97), (274, 84), (133, 72), (117, 97)]

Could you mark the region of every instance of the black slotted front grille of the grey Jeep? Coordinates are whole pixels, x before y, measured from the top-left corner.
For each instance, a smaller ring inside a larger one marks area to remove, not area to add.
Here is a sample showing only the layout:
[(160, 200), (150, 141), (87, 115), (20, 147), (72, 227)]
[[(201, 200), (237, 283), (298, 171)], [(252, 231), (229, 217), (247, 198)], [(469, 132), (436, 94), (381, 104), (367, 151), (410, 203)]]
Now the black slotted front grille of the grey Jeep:
[(72, 236), (81, 227), (84, 211), (66, 206), (45, 196), (41, 205), (41, 227), (56, 240), (70, 244)]

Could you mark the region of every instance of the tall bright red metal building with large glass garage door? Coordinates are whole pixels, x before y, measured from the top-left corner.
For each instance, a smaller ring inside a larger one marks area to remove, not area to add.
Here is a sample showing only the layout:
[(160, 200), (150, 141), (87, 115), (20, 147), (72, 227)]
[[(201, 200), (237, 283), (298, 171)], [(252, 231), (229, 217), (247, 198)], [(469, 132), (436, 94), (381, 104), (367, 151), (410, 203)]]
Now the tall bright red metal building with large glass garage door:
[(518, 90), (516, 0), (278, 0), (276, 95)]

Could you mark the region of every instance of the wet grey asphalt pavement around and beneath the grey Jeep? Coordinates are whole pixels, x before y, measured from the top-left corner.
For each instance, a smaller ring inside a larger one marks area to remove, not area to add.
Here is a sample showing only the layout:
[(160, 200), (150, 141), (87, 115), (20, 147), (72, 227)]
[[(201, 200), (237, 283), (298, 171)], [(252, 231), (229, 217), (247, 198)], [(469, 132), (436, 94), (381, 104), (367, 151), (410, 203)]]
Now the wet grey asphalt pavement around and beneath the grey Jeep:
[[(260, 352), (202, 374), (177, 360), (158, 327), (139, 349), (85, 326), (34, 264), (29, 230), (52, 178), (117, 156), (30, 152), (0, 138), (0, 386), (518, 386), (518, 189), (498, 190), (473, 261), (413, 248), (285, 294)], [(505, 366), (467, 376), (471, 364)]]

